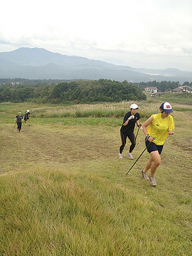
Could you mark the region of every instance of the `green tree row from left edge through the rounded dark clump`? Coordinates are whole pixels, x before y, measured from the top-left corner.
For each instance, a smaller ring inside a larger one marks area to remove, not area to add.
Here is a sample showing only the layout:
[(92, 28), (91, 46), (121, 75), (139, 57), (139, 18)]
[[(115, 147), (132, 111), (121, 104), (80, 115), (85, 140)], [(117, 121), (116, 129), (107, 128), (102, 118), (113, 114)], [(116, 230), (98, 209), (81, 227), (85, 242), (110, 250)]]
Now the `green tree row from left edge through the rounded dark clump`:
[(108, 79), (52, 84), (1, 84), (0, 102), (92, 103), (146, 100), (136, 84)]

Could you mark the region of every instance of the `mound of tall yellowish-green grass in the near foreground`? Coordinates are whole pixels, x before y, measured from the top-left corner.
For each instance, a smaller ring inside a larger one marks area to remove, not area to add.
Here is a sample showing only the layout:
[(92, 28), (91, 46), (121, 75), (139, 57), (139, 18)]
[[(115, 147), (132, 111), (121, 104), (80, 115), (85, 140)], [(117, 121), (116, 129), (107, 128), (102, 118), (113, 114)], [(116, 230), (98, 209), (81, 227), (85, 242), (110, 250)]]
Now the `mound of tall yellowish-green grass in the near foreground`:
[(191, 253), (177, 211), (92, 173), (40, 168), (0, 184), (1, 255)]

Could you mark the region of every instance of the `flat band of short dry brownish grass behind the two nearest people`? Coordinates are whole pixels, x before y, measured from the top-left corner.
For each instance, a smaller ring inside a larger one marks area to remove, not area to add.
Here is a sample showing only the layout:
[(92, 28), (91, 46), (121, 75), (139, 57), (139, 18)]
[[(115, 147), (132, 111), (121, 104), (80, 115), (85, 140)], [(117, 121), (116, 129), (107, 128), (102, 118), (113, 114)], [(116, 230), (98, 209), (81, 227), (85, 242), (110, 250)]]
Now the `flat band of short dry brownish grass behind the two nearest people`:
[[(192, 151), (192, 113), (173, 113), (175, 134), (168, 137), (163, 150), (163, 164), (173, 163), (191, 168)], [(76, 164), (92, 160), (118, 159), (120, 147), (120, 127), (62, 124), (22, 125), (21, 132), (14, 124), (0, 124), (0, 173), (28, 170), (38, 166), (54, 167), (60, 164)], [(135, 157), (145, 147), (143, 132), (140, 131), (134, 149)], [(124, 155), (129, 148), (129, 141)], [(176, 157), (176, 158), (174, 158)], [(125, 159), (124, 159), (125, 160)], [(126, 160), (125, 160), (126, 161)], [(145, 161), (145, 159), (141, 159)], [(125, 166), (127, 163), (125, 163)], [(130, 165), (130, 163), (128, 164)]]

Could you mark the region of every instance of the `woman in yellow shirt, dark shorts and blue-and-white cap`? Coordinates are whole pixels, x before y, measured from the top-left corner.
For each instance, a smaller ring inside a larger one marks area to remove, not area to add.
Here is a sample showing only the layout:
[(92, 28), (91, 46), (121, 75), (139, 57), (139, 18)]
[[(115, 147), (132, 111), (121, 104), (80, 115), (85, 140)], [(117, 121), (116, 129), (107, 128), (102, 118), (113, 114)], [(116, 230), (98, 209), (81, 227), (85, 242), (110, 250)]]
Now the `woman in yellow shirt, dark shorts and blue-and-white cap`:
[[(161, 164), (161, 152), (163, 150), (164, 141), (168, 134), (172, 135), (174, 129), (174, 120), (170, 113), (173, 112), (172, 106), (168, 102), (163, 102), (160, 106), (159, 114), (152, 115), (143, 124), (143, 132), (145, 134), (145, 144), (150, 158), (141, 170), (143, 178), (150, 181), (152, 186), (157, 186), (154, 178), (155, 172), (159, 164)], [(147, 171), (150, 169), (150, 176), (147, 176)]]

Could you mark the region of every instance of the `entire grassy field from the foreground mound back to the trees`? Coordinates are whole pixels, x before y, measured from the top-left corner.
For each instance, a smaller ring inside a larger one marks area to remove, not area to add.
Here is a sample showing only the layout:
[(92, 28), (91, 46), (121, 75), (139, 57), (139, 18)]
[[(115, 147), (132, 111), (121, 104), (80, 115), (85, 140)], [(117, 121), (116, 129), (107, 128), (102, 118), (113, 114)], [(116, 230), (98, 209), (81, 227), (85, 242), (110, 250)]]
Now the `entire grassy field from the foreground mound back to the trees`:
[[(156, 188), (140, 174), (147, 152), (125, 175), (145, 148), (142, 131), (134, 161), (129, 141), (118, 159), (131, 102), (0, 104), (0, 255), (191, 256), (192, 104), (180, 100), (169, 100), (175, 134)], [(159, 102), (138, 102), (141, 123)], [(26, 109), (31, 125), (19, 133), (14, 117)]]

